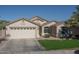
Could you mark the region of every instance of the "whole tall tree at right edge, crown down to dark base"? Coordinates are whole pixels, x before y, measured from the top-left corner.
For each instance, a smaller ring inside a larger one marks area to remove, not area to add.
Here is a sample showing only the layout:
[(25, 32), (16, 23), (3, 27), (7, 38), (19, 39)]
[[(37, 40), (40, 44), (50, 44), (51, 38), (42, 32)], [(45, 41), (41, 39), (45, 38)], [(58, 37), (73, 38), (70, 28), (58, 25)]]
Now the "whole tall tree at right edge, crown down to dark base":
[(76, 6), (76, 10), (71, 18), (65, 22), (65, 25), (72, 31), (72, 38), (79, 39), (79, 6)]

